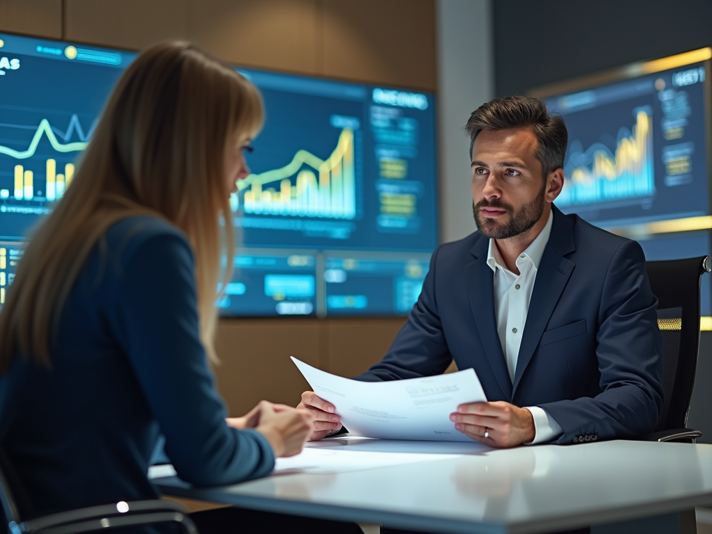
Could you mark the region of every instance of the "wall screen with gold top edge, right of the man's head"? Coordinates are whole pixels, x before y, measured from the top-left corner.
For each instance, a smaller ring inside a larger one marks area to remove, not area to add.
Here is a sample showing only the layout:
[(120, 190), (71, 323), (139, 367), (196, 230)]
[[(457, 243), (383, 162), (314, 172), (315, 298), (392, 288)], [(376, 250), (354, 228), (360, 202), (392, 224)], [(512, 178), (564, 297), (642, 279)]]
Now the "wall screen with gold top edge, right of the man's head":
[(638, 63), (614, 83), (545, 98), (569, 132), (562, 211), (617, 228), (710, 214), (710, 55)]

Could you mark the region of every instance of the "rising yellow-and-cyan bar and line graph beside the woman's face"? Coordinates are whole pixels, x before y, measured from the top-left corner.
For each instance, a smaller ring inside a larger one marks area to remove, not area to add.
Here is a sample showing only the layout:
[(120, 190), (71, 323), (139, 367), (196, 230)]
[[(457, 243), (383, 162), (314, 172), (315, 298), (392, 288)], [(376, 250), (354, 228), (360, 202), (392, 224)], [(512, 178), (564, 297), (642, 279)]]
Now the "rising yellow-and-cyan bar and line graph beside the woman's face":
[[(266, 187), (269, 184), (274, 185)], [(248, 214), (354, 219), (353, 130), (341, 130), (337, 145), (327, 159), (298, 150), (284, 167), (250, 174), (238, 182), (238, 189), (238, 194), (231, 197), (234, 211), (239, 209), (242, 197)]]

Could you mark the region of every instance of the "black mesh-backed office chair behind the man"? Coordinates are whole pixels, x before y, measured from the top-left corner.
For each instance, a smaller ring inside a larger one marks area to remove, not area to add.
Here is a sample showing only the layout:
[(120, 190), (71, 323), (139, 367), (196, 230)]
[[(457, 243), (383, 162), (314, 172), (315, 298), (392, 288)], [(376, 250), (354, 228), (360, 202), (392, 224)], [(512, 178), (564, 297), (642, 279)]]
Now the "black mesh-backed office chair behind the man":
[(649, 261), (646, 271), (658, 298), (658, 326), (663, 337), (663, 413), (648, 441), (696, 443), (702, 432), (686, 428), (700, 348), (700, 282), (712, 270), (709, 256)]

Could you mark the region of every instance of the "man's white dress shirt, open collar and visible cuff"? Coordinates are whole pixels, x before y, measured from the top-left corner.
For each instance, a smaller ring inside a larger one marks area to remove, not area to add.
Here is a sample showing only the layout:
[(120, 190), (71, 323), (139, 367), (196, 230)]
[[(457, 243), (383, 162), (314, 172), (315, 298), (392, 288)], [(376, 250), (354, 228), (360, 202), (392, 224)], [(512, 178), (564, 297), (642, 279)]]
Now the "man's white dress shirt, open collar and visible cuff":
[[(552, 211), (544, 229), (525, 251), (520, 253), (515, 262), (519, 275), (506, 268), (496, 241), (490, 239), (487, 265), (494, 272), (494, 313), (497, 319), (497, 333), (507, 362), (509, 378), (512, 381), (517, 368), (519, 345), (527, 322), (536, 273), (541, 257), (544, 255), (544, 248), (549, 242), (553, 221)], [(561, 426), (543, 408), (533, 406), (526, 409), (532, 414), (535, 429), (534, 439), (528, 444), (553, 441), (562, 434)]]

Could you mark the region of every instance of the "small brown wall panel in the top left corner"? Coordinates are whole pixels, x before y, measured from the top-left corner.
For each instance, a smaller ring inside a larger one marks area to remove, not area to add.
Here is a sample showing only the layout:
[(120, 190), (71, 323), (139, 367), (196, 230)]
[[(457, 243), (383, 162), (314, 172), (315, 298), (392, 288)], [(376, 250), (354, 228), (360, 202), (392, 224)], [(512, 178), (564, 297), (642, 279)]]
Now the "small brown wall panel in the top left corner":
[(62, 0), (0, 0), (0, 31), (62, 37)]

